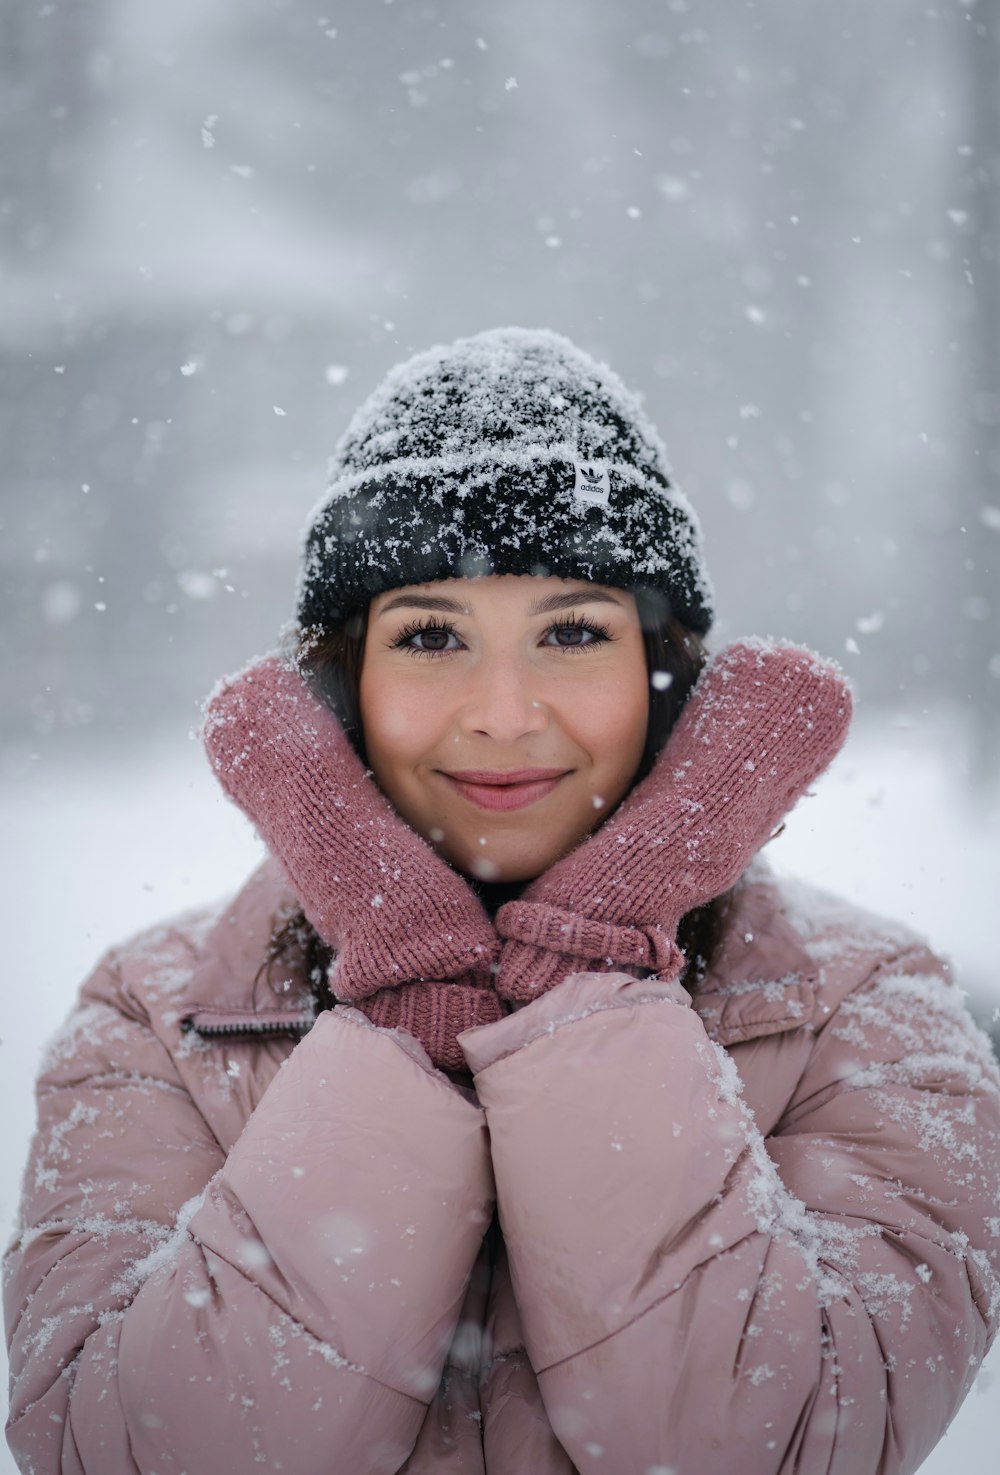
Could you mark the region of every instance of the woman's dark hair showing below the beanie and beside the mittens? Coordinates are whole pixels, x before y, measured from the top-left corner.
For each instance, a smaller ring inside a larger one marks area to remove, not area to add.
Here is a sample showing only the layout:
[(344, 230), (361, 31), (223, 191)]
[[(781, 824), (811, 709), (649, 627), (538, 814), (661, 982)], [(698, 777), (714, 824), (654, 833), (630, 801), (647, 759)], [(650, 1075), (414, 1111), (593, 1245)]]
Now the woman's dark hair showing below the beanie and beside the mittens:
[[(639, 609), (649, 671), (646, 743), (634, 779), (639, 783), (656, 761), (667, 735), (701, 676), (706, 656), (701, 639), (670, 614), (667, 600), (658, 590), (634, 589), (631, 593)], [(366, 634), (367, 611), (329, 628), (313, 625), (299, 634), (295, 650), (304, 678), (314, 695), (336, 714), (363, 761), (367, 758), (358, 693)], [(727, 906), (729, 894), (696, 907), (681, 919), (677, 943), (687, 957), (681, 982), (692, 994), (712, 962), (724, 929)], [(326, 978), (332, 951), (302, 913), (283, 922), (274, 932), (268, 959), (277, 960), (289, 951), (299, 954), (320, 1004), (329, 1007), (329, 991), (317, 984), (322, 985)]]

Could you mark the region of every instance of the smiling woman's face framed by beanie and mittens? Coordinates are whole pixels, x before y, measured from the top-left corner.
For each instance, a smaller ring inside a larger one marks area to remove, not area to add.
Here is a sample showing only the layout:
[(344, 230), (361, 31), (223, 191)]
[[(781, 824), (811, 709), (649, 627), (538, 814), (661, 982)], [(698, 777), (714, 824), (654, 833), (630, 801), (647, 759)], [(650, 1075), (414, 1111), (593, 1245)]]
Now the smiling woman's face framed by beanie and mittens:
[(372, 600), (360, 709), (400, 814), (459, 870), (527, 881), (618, 804), (646, 739), (636, 600), (491, 575)]

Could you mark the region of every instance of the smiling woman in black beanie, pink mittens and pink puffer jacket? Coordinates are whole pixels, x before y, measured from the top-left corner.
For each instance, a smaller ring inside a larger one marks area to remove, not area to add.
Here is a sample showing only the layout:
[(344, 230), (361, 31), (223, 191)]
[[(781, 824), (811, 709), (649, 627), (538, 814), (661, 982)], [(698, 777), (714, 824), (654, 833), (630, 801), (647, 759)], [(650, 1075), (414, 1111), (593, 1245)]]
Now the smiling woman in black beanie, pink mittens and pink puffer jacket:
[(914, 1471), (1000, 1316), (1000, 1080), (919, 938), (757, 856), (839, 673), (699, 677), (693, 513), (555, 335), (397, 369), (333, 473), (296, 662), (208, 705), (271, 856), (44, 1066), (21, 1468)]

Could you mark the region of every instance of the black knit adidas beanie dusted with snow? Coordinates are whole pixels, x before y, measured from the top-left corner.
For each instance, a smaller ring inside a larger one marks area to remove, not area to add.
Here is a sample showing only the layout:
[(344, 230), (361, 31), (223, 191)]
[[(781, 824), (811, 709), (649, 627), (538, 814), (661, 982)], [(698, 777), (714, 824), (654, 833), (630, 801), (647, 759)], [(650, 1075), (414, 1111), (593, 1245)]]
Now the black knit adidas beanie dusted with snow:
[(364, 401), (305, 532), (298, 624), (484, 574), (645, 587), (698, 634), (712, 620), (698, 518), (659, 435), (611, 369), (547, 330), (431, 348)]

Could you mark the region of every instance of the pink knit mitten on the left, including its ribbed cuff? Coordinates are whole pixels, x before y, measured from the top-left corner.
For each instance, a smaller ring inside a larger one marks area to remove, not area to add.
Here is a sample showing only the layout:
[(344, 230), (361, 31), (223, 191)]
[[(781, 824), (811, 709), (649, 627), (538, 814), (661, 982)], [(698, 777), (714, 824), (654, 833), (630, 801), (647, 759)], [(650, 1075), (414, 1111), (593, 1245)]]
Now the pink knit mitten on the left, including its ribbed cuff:
[(223, 789), (336, 950), (335, 997), (463, 1069), (456, 1035), (503, 1015), (491, 987), (497, 938), (472, 889), (404, 823), (280, 658), (212, 692), (204, 740)]

